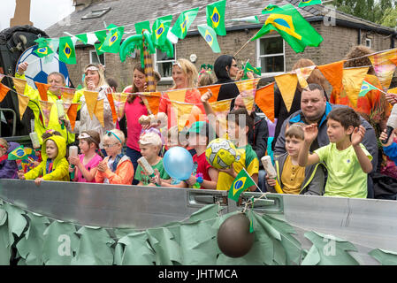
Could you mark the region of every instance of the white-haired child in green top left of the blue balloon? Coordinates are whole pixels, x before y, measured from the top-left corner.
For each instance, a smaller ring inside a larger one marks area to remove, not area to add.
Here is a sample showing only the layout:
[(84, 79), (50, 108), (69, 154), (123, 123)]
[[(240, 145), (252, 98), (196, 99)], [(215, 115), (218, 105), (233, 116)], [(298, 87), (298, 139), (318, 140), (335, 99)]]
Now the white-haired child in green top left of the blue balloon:
[(149, 165), (155, 170), (157, 181), (152, 180), (143, 170), (141, 164), (139, 164), (135, 174), (135, 180), (139, 181), (138, 186), (156, 186), (156, 182), (158, 186), (166, 186), (167, 183), (164, 180), (170, 179), (170, 176), (164, 170), (163, 158), (158, 156), (162, 148), (160, 136), (153, 132), (142, 134), (139, 140), (139, 147), (141, 156), (145, 157)]

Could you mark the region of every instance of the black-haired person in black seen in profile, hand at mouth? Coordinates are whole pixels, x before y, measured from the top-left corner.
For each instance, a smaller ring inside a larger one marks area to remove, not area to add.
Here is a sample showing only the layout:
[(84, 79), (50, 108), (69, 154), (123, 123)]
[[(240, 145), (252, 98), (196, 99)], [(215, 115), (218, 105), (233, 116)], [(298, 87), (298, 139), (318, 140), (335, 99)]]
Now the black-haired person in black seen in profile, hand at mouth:
[[(239, 70), (236, 58), (230, 55), (219, 56), (214, 63), (214, 72), (218, 79), (215, 84), (225, 84), (219, 88), (218, 101), (236, 98), (240, 94), (240, 90), (235, 84), (231, 83), (234, 81), (232, 78), (240, 80), (244, 75), (244, 71)], [(232, 110), (233, 107), (234, 100), (230, 109)]]

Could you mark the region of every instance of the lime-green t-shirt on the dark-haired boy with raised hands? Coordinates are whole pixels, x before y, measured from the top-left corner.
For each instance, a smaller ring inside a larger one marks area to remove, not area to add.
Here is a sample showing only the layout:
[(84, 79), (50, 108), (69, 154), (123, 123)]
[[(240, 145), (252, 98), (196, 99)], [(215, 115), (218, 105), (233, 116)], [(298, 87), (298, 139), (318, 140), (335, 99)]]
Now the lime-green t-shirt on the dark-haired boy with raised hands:
[[(365, 155), (372, 156), (360, 143)], [(368, 174), (363, 172), (353, 146), (344, 150), (336, 148), (336, 143), (330, 143), (314, 151), (320, 161), (324, 162), (328, 171), (325, 185), (325, 196), (367, 197)]]

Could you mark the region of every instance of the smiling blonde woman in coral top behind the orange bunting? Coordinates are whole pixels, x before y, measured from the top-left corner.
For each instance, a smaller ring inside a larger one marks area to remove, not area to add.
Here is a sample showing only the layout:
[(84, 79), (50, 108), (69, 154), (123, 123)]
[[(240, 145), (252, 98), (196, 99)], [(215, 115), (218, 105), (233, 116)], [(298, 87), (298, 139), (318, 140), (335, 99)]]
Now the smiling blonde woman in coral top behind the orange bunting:
[[(189, 88), (187, 89), (185, 99), (182, 102), (195, 103), (195, 106), (200, 108), (202, 113), (205, 115), (205, 111), (201, 101), (201, 94), (195, 88), (197, 83), (197, 77), (198, 73), (195, 65), (190, 63), (187, 59), (178, 59), (175, 64), (172, 65), (172, 80), (174, 81), (174, 86), (170, 88), (170, 90)], [(177, 92), (174, 92), (173, 94), (176, 93)], [(173, 94), (172, 92), (170, 93), (171, 96)], [(168, 116), (168, 128), (178, 125), (178, 119), (175, 113), (175, 109), (172, 107), (169, 94), (165, 94), (164, 96), (162, 96), (158, 111), (164, 112)]]

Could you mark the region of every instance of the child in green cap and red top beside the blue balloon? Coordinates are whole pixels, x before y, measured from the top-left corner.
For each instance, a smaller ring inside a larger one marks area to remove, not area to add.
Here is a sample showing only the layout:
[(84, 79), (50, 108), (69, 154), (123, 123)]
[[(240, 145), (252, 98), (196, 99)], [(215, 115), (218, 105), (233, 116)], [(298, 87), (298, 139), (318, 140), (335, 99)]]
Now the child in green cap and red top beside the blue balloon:
[[(196, 170), (187, 180), (187, 184), (193, 187), (197, 182), (200, 188), (217, 189), (218, 170), (213, 168), (205, 157), (205, 150), (210, 142), (210, 125), (207, 122), (195, 122), (188, 130), (189, 146), (195, 149), (196, 154), (193, 156)], [(200, 177), (202, 175), (202, 178)]]

